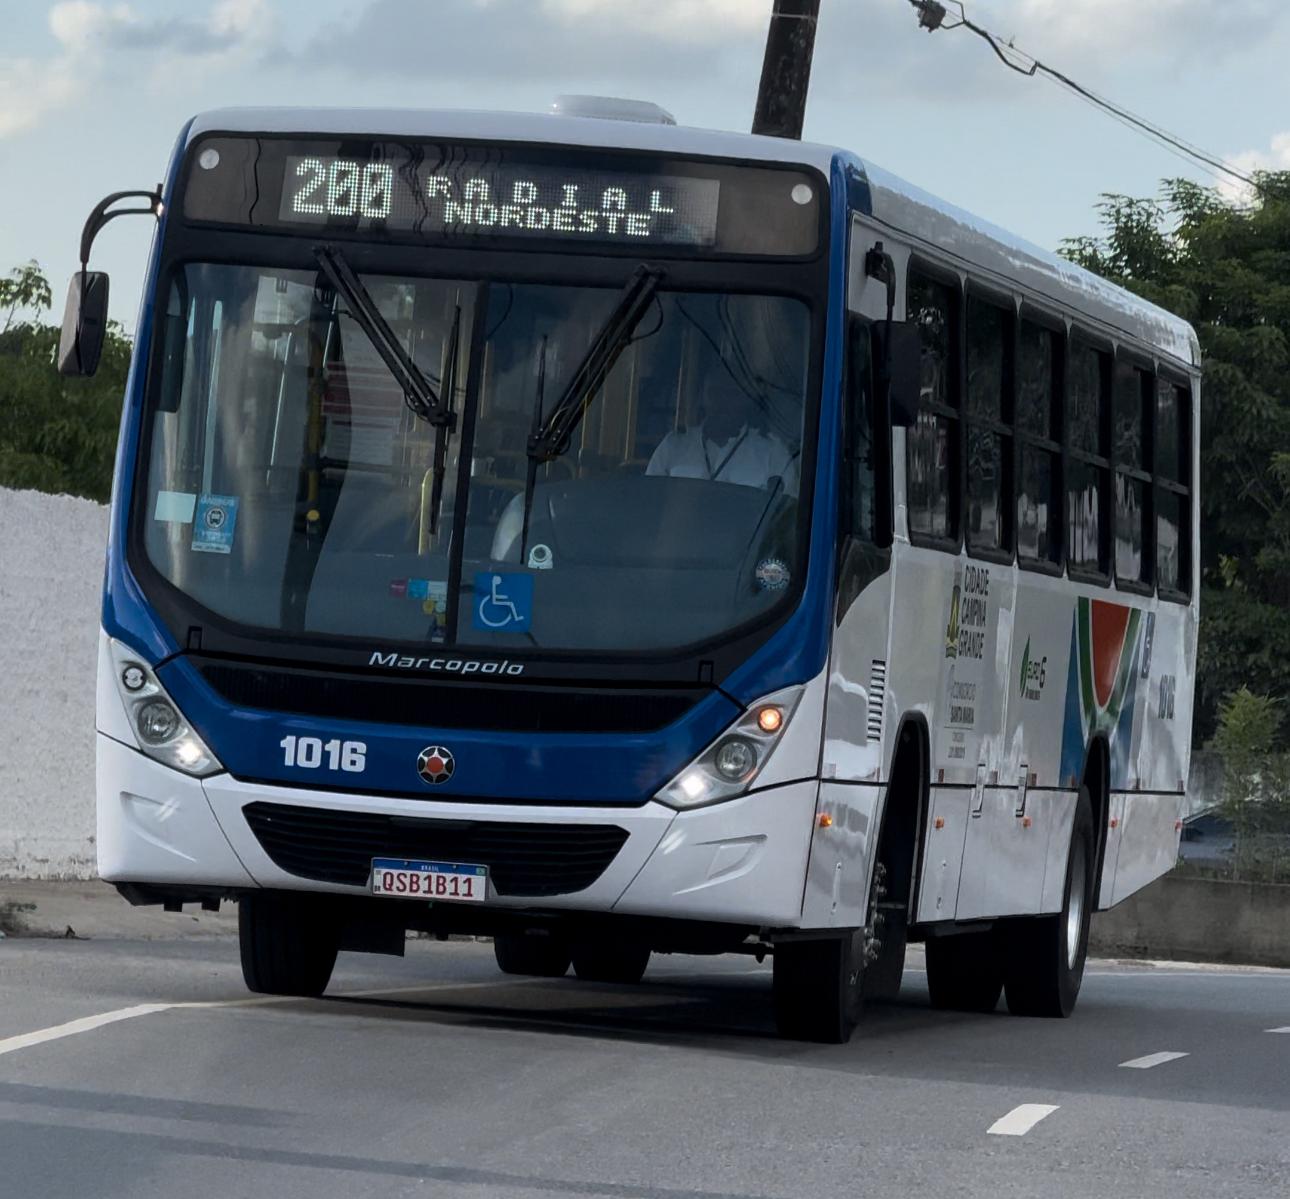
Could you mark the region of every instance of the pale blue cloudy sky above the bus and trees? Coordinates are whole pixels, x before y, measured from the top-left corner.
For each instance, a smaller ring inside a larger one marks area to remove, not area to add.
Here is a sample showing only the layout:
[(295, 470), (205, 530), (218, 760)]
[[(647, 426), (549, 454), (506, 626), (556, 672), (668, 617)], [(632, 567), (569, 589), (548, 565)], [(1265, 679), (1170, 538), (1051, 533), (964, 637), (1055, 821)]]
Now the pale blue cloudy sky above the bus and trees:
[[(965, 0), (977, 23), (1250, 169), (1290, 169), (1285, 0)], [(0, 274), (35, 258), (61, 312), (80, 230), (152, 187), (184, 121), (231, 105), (543, 111), (650, 99), (744, 130), (771, 0), (0, 0)], [(822, 0), (804, 137), (1055, 249), (1104, 192), (1213, 178), (908, 0)], [(151, 221), (92, 266), (133, 328)]]

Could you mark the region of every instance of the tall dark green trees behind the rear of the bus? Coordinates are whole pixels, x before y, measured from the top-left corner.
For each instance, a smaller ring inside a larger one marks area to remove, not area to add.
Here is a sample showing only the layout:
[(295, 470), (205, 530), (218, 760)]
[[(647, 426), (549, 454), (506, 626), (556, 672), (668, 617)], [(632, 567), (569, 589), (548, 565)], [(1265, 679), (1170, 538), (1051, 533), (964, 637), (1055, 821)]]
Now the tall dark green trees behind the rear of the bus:
[(1290, 698), (1290, 172), (1258, 185), (1250, 204), (1187, 179), (1107, 195), (1103, 235), (1063, 245), (1200, 337), (1197, 741), (1241, 687)]

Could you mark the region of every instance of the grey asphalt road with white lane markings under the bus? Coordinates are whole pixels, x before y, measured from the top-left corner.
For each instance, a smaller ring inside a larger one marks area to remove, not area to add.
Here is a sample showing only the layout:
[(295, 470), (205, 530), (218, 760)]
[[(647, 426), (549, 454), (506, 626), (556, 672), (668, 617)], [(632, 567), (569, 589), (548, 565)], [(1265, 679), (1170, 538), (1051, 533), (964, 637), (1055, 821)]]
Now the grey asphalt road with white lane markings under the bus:
[(226, 937), (4, 941), (0, 1196), (1290, 1195), (1290, 973), (1094, 963), (1032, 1021), (933, 1012), (915, 968), (844, 1047), (777, 1040), (769, 991), (414, 942), (246, 1002)]

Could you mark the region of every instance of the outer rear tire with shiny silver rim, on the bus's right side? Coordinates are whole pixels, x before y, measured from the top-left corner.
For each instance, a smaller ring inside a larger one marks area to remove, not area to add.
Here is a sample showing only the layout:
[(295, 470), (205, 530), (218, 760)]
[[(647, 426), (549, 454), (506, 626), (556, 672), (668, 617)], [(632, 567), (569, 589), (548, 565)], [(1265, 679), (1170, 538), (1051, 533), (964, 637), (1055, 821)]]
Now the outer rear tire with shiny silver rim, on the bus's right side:
[(1080, 789), (1066, 862), (1062, 911), (1054, 916), (1009, 920), (998, 929), (1004, 990), (1014, 1016), (1064, 1018), (1075, 1011), (1089, 954), (1096, 835), (1093, 803)]

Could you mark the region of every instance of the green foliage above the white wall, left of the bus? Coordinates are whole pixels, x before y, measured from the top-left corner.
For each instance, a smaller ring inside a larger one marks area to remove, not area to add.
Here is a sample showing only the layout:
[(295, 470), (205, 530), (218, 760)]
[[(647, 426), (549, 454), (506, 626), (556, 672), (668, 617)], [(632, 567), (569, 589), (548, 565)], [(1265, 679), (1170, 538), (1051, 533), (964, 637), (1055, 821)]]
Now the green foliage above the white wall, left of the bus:
[(52, 303), (35, 262), (0, 280), (0, 487), (106, 502), (130, 342), (111, 325), (98, 373), (63, 378), (58, 327), (40, 320)]

